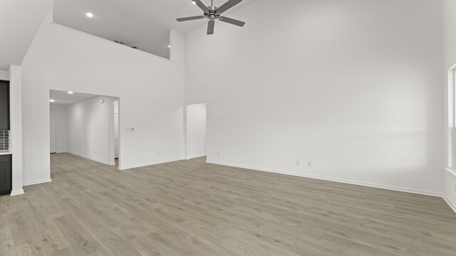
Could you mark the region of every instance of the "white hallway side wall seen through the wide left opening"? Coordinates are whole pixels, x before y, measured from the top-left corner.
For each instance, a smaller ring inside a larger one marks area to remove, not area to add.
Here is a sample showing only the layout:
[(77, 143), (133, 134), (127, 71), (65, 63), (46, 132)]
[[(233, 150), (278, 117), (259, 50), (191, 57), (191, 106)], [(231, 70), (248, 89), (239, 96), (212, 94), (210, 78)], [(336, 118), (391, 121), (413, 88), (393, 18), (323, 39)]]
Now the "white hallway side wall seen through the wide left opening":
[(103, 164), (115, 164), (115, 100), (115, 97), (99, 96), (67, 106), (69, 153)]

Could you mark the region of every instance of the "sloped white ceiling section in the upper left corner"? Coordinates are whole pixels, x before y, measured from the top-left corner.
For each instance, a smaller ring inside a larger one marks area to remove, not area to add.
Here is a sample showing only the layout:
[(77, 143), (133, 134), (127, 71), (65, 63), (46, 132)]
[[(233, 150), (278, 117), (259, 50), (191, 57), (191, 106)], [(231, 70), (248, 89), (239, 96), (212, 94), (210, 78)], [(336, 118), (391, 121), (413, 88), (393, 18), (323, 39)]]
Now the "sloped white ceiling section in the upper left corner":
[(21, 65), (53, 0), (0, 0), (0, 70)]

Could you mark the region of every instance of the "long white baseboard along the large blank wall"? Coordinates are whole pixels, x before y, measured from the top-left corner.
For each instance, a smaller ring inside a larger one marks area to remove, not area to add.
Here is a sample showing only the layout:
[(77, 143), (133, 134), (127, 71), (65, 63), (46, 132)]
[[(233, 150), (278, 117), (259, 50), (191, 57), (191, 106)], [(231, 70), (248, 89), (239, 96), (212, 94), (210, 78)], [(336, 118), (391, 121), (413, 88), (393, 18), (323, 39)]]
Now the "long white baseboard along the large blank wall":
[(420, 195), (425, 195), (425, 196), (442, 197), (442, 193), (438, 193), (438, 192), (434, 192), (434, 191), (423, 191), (423, 190), (413, 189), (413, 188), (403, 188), (403, 187), (398, 187), (398, 186), (381, 185), (381, 184), (368, 183), (368, 182), (362, 182), (362, 181), (351, 181), (351, 180), (346, 180), (346, 179), (341, 179), (341, 178), (330, 178), (330, 177), (326, 177), (326, 176), (296, 174), (296, 173), (289, 173), (286, 171), (261, 169), (261, 168), (252, 167), (252, 166), (240, 166), (240, 165), (234, 165), (234, 164), (227, 164), (227, 163), (223, 163), (223, 162), (219, 162), (219, 161), (206, 161), (206, 162), (208, 164), (232, 166), (232, 167), (237, 167), (237, 168), (242, 168), (242, 169), (249, 169), (252, 171), (266, 171), (266, 172), (270, 172), (270, 173), (274, 173), (274, 174), (285, 174), (285, 175), (298, 176), (298, 177), (303, 177), (303, 178), (315, 178), (315, 179), (319, 179), (322, 181), (334, 181), (334, 182), (347, 183), (347, 184), (358, 185), (358, 186), (367, 186), (367, 187), (371, 187), (371, 188), (383, 188), (383, 189), (388, 189), (388, 190), (392, 190), (392, 191), (415, 193), (415, 194), (420, 194)]

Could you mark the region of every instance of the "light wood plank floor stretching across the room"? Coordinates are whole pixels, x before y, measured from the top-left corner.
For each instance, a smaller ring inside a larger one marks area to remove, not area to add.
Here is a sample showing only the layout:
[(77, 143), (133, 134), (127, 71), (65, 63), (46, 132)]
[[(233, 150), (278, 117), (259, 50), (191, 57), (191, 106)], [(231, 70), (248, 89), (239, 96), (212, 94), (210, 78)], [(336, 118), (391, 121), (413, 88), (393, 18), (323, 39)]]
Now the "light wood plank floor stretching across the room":
[(0, 196), (0, 255), (456, 255), (441, 198), (204, 160), (52, 154), (52, 183)]

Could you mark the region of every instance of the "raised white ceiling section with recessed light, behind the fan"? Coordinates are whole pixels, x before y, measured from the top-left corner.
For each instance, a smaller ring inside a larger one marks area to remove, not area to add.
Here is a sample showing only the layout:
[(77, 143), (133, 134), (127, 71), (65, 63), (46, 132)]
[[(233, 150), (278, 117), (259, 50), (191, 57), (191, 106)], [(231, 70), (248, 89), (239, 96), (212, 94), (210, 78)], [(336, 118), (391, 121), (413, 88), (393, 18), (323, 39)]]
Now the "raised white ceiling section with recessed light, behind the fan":
[[(221, 6), (225, 1), (214, 0), (214, 6)], [(256, 0), (244, 0), (230, 11), (253, 1)], [(202, 2), (210, 5), (209, 0)], [(88, 12), (94, 17), (88, 18)], [(182, 23), (176, 21), (176, 18), (202, 15), (201, 9), (191, 0), (55, 0), (53, 15), (54, 22), (63, 26), (112, 41), (122, 41), (125, 45), (137, 46), (164, 58), (170, 55), (170, 29), (187, 33), (205, 26), (208, 21), (205, 18)], [(232, 18), (242, 20), (242, 17)]]

